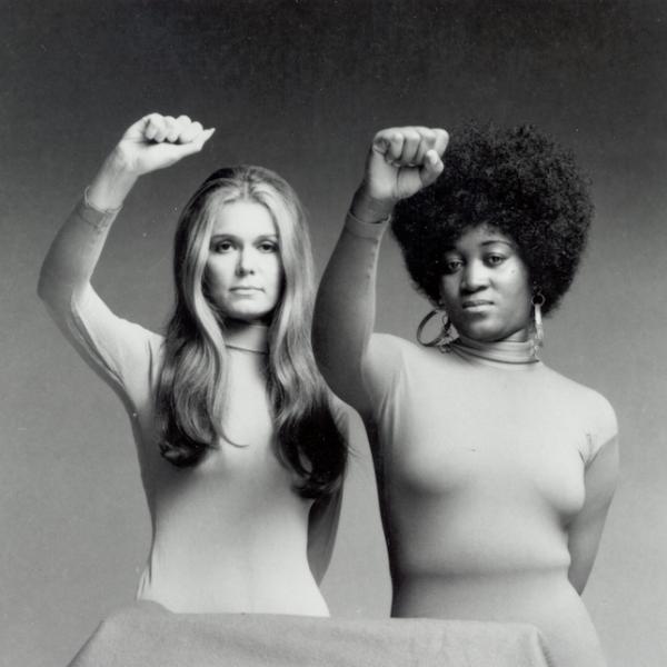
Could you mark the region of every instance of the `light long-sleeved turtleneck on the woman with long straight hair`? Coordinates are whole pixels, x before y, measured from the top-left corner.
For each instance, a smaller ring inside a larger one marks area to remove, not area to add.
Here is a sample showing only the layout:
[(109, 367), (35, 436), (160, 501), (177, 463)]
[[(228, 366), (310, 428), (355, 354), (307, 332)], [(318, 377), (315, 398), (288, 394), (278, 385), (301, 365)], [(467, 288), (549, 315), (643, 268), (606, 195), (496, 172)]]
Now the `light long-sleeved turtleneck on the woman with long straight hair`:
[[(183, 613), (327, 615), (318, 589), (340, 494), (313, 504), (275, 452), (267, 327), (227, 322), (225, 434), (192, 467), (160, 455), (155, 411), (163, 338), (116, 316), (90, 285), (113, 212), (80, 202), (44, 260), (40, 295), (130, 418), (152, 539), (137, 597)], [(335, 415), (346, 429), (345, 414)], [(103, 444), (98, 444), (98, 446)]]

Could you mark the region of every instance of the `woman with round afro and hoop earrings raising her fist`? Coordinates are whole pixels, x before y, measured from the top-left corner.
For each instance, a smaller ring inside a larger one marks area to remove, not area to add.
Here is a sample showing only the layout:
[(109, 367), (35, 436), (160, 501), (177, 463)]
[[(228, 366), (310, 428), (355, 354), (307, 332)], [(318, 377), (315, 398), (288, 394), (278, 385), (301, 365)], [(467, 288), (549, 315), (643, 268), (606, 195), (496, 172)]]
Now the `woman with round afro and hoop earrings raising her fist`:
[[(615, 489), (616, 418), (539, 358), (593, 207), (571, 156), (530, 127), (448, 141), (376, 135), (318, 295), (316, 358), (369, 435), (392, 616), (528, 623), (555, 665), (601, 666), (580, 594)], [(420, 346), (372, 334), (389, 219), (434, 305)]]

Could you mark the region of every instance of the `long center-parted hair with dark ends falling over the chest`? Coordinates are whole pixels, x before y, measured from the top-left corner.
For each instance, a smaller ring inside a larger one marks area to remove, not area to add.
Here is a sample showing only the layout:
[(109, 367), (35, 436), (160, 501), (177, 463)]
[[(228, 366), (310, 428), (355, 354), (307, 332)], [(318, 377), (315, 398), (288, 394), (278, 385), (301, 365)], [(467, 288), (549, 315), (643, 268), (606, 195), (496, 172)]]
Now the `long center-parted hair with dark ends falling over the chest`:
[(156, 397), (160, 449), (173, 465), (193, 466), (226, 439), (225, 319), (207, 297), (206, 263), (216, 215), (233, 201), (263, 206), (278, 230), (283, 286), (269, 325), (267, 364), (276, 455), (293, 470), (302, 496), (319, 497), (340, 485), (347, 442), (312, 356), (315, 273), (303, 210), (289, 183), (261, 167), (216, 171), (181, 213), (173, 251), (176, 305)]

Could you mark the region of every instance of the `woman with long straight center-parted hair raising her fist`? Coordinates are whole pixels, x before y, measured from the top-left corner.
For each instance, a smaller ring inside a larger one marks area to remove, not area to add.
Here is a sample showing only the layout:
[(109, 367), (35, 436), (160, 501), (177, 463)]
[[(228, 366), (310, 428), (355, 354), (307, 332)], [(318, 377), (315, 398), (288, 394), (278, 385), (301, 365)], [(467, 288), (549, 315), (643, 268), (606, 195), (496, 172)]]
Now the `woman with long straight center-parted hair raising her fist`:
[(165, 336), (117, 317), (90, 285), (136, 180), (212, 132), (185, 116), (133, 123), (53, 241), (39, 293), (131, 421), (152, 522), (138, 599), (327, 616), (318, 583), (347, 444), (310, 350), (310, 245), (293, 190), (241, 166), (195, 192), (176, 232)]

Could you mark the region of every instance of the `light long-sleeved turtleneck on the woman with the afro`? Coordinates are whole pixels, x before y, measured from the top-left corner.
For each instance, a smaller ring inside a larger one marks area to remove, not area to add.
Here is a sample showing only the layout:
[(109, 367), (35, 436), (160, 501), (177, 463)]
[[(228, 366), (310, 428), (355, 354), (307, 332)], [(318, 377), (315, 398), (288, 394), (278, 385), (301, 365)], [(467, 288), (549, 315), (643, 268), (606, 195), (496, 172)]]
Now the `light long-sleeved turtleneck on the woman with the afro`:
[(374, 334), (385, 225), (348, 218), (313, 346), (374, 454), (394, 616), (522, 621), (559, 667), (604, 658), (581, 603), (616, 478), (616, 420), (530, 341), (447, 351)]

